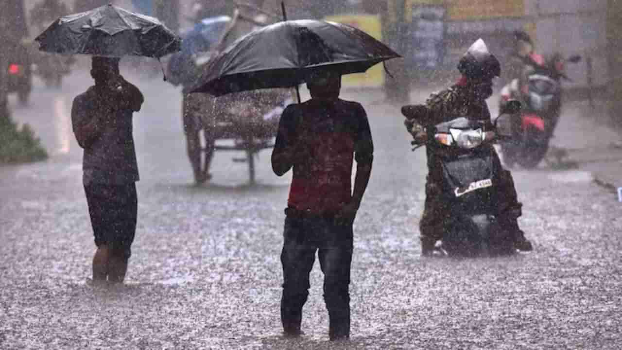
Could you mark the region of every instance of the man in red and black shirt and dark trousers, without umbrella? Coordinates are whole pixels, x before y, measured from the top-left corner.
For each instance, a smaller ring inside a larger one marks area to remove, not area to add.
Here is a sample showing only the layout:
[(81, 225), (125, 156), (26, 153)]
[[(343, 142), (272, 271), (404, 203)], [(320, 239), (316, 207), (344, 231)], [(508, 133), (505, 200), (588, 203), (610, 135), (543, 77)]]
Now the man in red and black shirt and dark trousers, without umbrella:
[[(341, 76), (315, 73), (307, 79), (311, 100), (282, 113), (272, 169), (293, 168), (285, 209), (281, 320), (287, 336), (301, 334), (302, 306), (318, 250), (331, 340), (350, 336), (350, 263), (356, 211), (367, 188), (374, 146), (360, 103), (339, 98)], [(354, 190), (351, 187), (356, 159)]]

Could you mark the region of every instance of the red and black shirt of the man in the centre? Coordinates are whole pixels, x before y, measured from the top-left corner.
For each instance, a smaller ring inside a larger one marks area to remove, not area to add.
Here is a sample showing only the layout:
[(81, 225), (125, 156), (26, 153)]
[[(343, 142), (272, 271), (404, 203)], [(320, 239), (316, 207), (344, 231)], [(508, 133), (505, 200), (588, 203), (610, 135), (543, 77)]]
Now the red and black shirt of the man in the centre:
[(309, 100), (282, 113), (274, 152), (303, 143), (307, 161), (294, 164), (288, 206), (315, 214), (335, 214), (350, 202), (353, 160), (368, 162), (374, 145), (360, 103)]

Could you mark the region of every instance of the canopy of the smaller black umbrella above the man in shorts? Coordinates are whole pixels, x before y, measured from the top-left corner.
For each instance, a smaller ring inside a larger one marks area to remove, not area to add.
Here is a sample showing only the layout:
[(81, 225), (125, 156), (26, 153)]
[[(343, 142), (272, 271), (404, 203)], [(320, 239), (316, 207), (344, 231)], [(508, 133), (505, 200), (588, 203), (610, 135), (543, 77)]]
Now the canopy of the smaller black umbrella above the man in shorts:
[(60, 17), (35, 38), (55, 54), (160, 58), (177, 52), (181, 39), (154, 17), (111, 4)]

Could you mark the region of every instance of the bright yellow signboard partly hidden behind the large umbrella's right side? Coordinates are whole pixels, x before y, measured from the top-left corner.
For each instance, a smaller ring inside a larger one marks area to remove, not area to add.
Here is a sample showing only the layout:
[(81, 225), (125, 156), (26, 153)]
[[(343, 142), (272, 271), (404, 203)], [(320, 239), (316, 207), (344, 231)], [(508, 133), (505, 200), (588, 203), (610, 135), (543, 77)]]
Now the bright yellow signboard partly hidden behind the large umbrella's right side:
[[(328, 16), (326, 20), (348, 24), (348, 26), (366, 32), (374, 39), (383, 39), (380, 16), (378, 15)], [(344, 75), (341, 84), (343, 87), (381, 87), (384, 85), (383, 65), (374, 65), (366, 73)]]

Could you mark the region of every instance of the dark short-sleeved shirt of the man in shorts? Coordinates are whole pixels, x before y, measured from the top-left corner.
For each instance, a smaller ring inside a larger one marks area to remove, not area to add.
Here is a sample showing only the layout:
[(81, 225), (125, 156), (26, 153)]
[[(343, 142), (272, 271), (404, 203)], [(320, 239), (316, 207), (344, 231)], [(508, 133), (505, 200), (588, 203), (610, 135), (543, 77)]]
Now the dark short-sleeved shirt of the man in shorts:
[(139, 180), (132, 114), (140, 110), (142, 94), (125, 80), (122, 87), (126, 103), (121, 102), (121, 96), (116, 95), (116, 92), (95, 86), (73, 100), (74, 132), (95, 116), (101, 117), (96, 125), (100, 135), (84, 149), (82, 169), (85, 185), (91, 182), (128, 184)]

